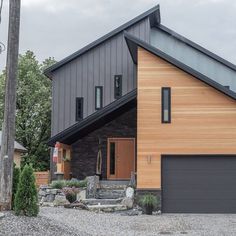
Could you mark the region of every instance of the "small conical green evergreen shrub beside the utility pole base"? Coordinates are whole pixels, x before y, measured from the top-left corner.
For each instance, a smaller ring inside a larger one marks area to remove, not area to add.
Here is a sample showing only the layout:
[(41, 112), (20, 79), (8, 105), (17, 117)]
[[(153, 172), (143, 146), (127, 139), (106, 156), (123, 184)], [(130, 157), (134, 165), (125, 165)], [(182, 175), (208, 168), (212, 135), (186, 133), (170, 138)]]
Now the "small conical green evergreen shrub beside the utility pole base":
[(33, 168), (25, 165), (20, 174), (15, 196), (14, 211), (16, 215), (37, 216), (39, 213), (38, 193), (35, 186)]

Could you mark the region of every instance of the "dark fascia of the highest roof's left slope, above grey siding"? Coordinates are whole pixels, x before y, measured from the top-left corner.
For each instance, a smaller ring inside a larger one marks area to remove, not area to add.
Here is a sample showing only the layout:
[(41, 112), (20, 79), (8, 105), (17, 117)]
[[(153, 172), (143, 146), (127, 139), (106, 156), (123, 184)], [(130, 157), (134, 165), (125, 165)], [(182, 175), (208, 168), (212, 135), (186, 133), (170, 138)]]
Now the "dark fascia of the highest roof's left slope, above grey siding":
[(130, 26), (138, 23), (139, 21), (143, 20), (144, 18), (149, 17), (150, 25), (153, 27), (154, 25), (160, 24), (160, 6), (159, 4), (148, 11), (144, 12), (143, 14), (135, 17), (134, 19), (130, 20), (129, 22), (121, 25), (120, 27), (116, 28), (115, 30), (111, 31), (110, 33), (102, 36), (101, 38), (95, 40), (94, 42), (88, 44), (87, 46), (83, 47), (82, 49), (78, 50), (77, 52), (71, 54), (70, 56), (62, 59), (61, 61), (55, 63), (54, 65), (48, 67), (44, 70), (44, 74), (51, 78), (52, 73), (60, 68), (61, 66), (67, 64), (68, 62), (74, 60), (75, 58), (81, 56), (82, 54), (86, 53), (87, 51), (91, 50), (92, 48), (98, 46), (99, 44), (103, 43), (104, 41), (114, 37), (116, 34), (124, 31), (125, 29), (129, 28)]

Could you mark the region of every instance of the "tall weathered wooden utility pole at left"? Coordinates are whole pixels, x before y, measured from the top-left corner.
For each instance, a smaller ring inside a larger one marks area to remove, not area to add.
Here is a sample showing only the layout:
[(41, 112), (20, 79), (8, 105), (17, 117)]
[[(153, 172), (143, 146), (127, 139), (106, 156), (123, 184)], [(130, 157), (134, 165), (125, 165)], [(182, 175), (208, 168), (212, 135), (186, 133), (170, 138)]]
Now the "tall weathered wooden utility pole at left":
[(11, 209), (15, 140), (16, 81), (19, 54), (21, 0), (9, 1), (5, 107), (0, 155), (0, 208)]

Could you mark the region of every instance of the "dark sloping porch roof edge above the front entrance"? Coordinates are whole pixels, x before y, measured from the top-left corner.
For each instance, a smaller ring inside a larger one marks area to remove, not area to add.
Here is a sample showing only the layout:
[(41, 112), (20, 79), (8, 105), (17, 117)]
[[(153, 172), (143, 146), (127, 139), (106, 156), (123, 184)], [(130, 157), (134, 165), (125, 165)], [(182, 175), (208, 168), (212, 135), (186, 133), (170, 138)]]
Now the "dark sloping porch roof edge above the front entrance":
[(48, 145), (53, 147), (56, 142), (64, 144), (74, 143), (79, 138), (104, 125), (108, 120), (111, 120), (112, 117), (114, 118), (119, 116), (122, 111), (124, 112), (127, 109), (130, 109), (130, 107), (133, 107), (136, 103), (136, 97), (137, 90), (134, 89), (122, 96), (120, 99), (117, 99), (102, 109), (94, 112), (84, 120), (75, 123), (69, 128), (51, 137), (48, 141)]

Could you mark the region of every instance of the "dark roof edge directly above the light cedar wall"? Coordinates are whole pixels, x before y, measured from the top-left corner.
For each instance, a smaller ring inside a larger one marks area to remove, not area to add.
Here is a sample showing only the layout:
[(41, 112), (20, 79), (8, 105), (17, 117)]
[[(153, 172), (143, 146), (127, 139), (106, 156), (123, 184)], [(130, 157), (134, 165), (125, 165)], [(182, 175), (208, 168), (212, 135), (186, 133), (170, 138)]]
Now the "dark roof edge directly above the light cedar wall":
[(232, 90), (229, 90), (225, 88), (223, 85), (217, 83), (216, 81), (208, 78), (207, 76), (201, 74), (200, 72), (194, 70), (193, 68), (183, 64), (182, 62), (176, 60), (175, 58), (165, 54), (161, 50), (153, 47), (152, 45), (138, 39), (137, 37), (134, 37), (133, 35), (124, 32), (125, 40), (127, 42), (129, 51), (131, 53), (132, 59), (135, 64), (137, 64), (137, 49), (138, 47), (141, 47), (150, 53), (162, 58), (163, 60), (171, 63), (172, 65), (178, 67), (179, 69), (187, 72), (188, 74), (192, 75), (193, 77), (199, 79), (200, 81), (208, 84), (209, 86), (217, 89), (218, 91), (222, 92), (223, 94), (229, 96), (230, 98), (233, 98), (236, 100), (236, 93)]

